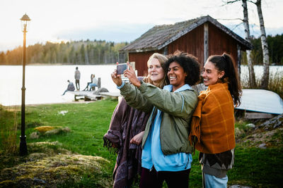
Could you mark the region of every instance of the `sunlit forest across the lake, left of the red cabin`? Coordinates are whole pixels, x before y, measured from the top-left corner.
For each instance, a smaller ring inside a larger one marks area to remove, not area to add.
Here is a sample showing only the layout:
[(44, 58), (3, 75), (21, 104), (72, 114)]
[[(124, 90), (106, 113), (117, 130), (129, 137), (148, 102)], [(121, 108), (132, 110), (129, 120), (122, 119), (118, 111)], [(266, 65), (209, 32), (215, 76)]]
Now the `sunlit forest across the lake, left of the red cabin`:
[[(76, 65), (97, 65), (116, 63), (119, 49), (127, 42), (105, 42), (105, 40), (71, 41), (45, 44), (34, 44), (26, 48), (26, 63), (62, 63)], [(121, 62), (125, 60), (121, 60)], [(23, 62), (23, 46), (0, 53), (0, 65), (21, 65)]]

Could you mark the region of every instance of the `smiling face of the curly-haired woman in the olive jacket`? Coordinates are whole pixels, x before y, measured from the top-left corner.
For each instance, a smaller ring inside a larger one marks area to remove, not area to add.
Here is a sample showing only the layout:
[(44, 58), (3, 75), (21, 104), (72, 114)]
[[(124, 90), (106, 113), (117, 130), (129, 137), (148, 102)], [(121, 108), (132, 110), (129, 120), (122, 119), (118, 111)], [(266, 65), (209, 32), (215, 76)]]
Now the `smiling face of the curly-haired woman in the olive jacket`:
[(169, 65), (167, 75), (170, 84), (173, 85), (173, 92), (185, 84), (185, 77), (187, 76), (187, 73), (185, 73), (183, 67), (179, 63), (176, 63), (175, 61), (172, 62)]

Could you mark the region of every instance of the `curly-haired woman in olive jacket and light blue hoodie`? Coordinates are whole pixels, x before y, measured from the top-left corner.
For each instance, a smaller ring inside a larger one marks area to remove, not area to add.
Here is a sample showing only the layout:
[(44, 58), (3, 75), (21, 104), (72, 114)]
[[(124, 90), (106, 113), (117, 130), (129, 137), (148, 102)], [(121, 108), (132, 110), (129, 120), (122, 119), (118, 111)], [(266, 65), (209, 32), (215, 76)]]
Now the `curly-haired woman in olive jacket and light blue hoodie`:
[(200, 80), (200, 64), (194, 56), (176, 52), (165, 63), (170, 84), (160, 89), (140, 82), (129, 65), (122, 82), (112, 73), (127, 103), (141, 111), (151, 110), (142, 139), (140, 187), (188, 187), (192, 146), (188, 141), (190, 120), (197, 105), (191, 88)]

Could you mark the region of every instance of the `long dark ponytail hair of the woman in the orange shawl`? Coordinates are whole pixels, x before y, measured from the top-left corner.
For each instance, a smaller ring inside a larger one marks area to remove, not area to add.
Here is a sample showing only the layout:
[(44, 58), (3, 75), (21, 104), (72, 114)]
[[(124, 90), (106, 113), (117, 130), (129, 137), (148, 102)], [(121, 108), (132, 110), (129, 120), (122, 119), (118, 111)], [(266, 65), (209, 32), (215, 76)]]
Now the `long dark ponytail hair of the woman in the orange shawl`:
[(220, 80), (223, 83), (228, 83), (233, 102), (236, 106), (239, 106), (241, 104), (242, 89), (233, 58), (229, 54), (224, 53), (222, 56), (209, 56), (207, 62), (209, 61), (214, 63), (216, 69), (224, 71), (225, 74)]

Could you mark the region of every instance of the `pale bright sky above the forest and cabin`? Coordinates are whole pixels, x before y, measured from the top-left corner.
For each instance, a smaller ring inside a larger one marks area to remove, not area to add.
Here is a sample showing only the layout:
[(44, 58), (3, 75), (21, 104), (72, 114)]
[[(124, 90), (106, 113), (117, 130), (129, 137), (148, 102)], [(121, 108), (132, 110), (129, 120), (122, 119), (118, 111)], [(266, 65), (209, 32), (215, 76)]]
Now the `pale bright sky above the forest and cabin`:
[[(248, 9), (250, 32), (258, 37), (256, 6), (248, 3)], [(283, 33), (282, 10), (282, 0), (262, 0), (267, 35)], [(243, 27), (235, 28), (241, 23), (236, 18), (243, 19), (241, 1), (224, 6), (222, 0), (0, 0), (0, 51), (23, 45), (20, 19), (25, 13), (31, 19), (27, 45), (81, 39), (132, 42), (154, 25), (203, 15), (243, 35)]]

